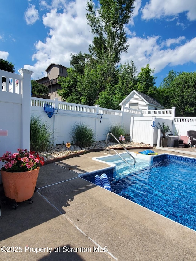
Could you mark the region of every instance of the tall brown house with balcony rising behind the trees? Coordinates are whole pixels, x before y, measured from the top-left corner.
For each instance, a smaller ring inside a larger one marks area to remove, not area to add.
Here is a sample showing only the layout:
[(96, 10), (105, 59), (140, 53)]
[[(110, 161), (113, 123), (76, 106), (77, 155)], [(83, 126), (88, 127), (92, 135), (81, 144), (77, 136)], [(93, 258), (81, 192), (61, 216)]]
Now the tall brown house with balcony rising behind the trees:
[(58, 96), (57, 90), (61, 90), (60, 84), (58, 84), (58, 76), (67, 76), (67, 67), (60, 64), (51, 63), (46, 69), (47, 76), (39, 80), (36, 80), (38, 83), (43, 84), (48, 87), (48, 95), (50, 99), (59, 98), (62, 101), (62, 97)]

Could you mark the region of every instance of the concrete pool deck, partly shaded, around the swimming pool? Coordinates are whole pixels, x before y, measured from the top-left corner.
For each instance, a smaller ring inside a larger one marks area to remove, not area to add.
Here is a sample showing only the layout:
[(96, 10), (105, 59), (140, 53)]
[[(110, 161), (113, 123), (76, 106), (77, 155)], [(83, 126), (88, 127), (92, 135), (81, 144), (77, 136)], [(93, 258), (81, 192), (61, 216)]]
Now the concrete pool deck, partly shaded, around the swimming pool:
[(103, 155), (44, 165), (33, 204), (1, 204), (1, 247), (22, 250), (0, 252), (1, 260), (195, 260), (196, 231), (78, 177), (107, 167), (92, 160)]

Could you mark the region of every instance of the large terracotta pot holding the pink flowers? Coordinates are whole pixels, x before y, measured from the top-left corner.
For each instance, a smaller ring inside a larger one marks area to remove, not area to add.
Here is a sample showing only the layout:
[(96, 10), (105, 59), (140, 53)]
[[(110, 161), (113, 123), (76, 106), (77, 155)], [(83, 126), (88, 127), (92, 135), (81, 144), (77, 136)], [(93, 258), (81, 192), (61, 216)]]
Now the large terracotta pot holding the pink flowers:
[(22, 202), (33, 196), (40, 167), (25, 172), (8, 172), (1, 169), (5, 196)]

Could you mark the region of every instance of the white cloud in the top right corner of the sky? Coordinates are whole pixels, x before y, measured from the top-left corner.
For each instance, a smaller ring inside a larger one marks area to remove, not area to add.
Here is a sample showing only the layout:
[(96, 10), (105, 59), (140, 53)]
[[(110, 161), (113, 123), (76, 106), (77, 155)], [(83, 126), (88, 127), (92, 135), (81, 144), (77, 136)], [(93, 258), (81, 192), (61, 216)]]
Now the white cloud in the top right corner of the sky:
[(186, 12), (187, 19), (196, 20), (195, 0), (150, 0), (142, 9), (143, 19), (161, 18), (165, 16), (177, 16)]

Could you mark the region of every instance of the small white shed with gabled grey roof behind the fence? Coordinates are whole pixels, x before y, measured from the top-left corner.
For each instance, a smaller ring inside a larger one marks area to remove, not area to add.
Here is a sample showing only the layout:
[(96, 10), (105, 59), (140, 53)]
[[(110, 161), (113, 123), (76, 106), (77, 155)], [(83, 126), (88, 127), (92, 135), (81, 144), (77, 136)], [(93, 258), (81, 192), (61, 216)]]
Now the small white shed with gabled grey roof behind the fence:
[(133, 90), (129, 95), (119, 104), (127, 108), (136, 110), (162, 110), (164, 106), (158, 103), (155, 99), (147, 94)]

